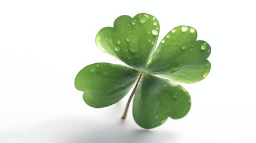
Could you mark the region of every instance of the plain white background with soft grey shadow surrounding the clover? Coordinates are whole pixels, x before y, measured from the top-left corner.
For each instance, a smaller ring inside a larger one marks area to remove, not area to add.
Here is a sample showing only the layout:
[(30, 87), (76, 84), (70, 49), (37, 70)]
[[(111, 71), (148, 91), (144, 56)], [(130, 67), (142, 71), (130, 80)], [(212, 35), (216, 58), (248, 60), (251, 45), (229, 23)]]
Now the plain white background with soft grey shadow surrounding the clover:
[[(88, 64), (122, 64), (95, 35), (138, 13), (158, 18), (159, 41), (185, 24), (212, 48), (208, 77), (181, 84), (187, 116), (151, 130), (131, 108), (121, 121), (129, 95), (92, 108), (74, 86)], [(0, 142), (256, 142), (255, 13), (253, 1), (0, 1)]]

